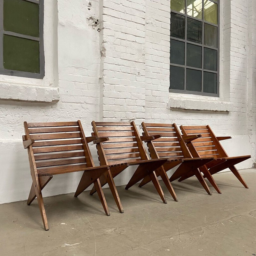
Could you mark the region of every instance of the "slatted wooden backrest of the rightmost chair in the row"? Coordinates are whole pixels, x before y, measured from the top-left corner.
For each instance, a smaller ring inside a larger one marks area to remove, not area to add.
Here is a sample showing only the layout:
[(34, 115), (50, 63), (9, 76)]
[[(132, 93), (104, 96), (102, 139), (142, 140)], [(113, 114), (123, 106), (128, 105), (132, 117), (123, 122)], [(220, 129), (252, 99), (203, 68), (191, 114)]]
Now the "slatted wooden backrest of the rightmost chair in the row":
[(181, 125), (180, 129), (183, 135), (202, 135), (201, 138), (189, 142), (188, 148), (194, 157), (220, 158), (228, 156), (209, 125)]

